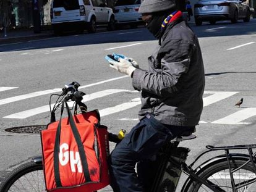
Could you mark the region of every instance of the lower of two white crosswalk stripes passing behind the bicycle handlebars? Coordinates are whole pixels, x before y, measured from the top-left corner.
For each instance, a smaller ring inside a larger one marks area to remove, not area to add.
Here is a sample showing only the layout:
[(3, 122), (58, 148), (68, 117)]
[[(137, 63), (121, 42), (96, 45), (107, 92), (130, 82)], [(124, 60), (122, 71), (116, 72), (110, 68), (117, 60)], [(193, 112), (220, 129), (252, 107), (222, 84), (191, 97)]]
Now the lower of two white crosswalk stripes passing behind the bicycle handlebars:
[[(105, 96), (108, 96), (110, 94), (115, 94), (115, 93), (121, 93), (121, 92), (130, 92), (130, 93), (138, 93), (138, 91), (131, 91), (131, 90), (104, 90), (104, 91), (98, 91), (96, 93), (92, 94), (86, 94), (83, 96), (82, 102), (87, 102), (92, 99), (98, 99), (98, 98), (103, 98)], [(68, 102), (69, 107), (74, 106), (74, 102)], [(51, 104), (51, 109), (53, 109), (54, 104)], [(33, 115), (38, 115), (43, 112), (49, 112), (49, 105), (37, 107), (35, 109), (29, 109), (27, 111), (22, 111), (22, 112), (17, 112), (15, 114), (7, 115), (3, 118), (7, 119), (25, 119), (27, 117), (32, 117)]]

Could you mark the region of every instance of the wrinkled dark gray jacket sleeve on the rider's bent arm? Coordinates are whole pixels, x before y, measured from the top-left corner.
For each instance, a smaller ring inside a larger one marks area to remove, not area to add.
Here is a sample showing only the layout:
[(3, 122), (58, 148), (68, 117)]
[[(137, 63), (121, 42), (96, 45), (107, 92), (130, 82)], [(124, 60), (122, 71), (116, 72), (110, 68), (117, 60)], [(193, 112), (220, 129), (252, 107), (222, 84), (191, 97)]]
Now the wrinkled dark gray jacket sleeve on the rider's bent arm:
[(161, 71), (150, 73), (136, 69), (133, 74), (135, 90), (164, 96), (177, 91), (176, 84), (187, 73), (192, 54), (192, 43), (185, 40), (171, 40), (163, 44), (158, 52)]

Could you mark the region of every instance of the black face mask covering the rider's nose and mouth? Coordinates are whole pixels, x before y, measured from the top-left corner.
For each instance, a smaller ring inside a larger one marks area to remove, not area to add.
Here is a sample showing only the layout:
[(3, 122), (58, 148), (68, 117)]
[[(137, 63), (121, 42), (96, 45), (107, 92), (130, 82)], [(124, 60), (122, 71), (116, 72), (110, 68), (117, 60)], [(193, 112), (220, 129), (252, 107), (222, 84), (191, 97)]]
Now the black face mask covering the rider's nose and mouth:
[(147, 24), (148, 30), (155, 36), (155, 38), (160, 38), (161, 25), (166, 15), (153, 15), (151, 20)]

